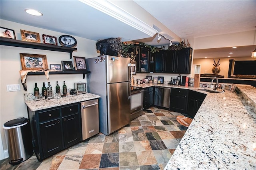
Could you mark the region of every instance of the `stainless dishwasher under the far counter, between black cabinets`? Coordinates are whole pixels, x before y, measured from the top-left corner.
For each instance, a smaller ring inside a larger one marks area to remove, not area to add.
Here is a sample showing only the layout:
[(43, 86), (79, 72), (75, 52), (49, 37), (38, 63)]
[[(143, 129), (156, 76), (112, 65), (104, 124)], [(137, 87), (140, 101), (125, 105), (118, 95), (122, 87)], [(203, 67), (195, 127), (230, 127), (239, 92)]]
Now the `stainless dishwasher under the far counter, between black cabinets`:
[(171, 88), (155, 87), (154, 105), (170, 109)]

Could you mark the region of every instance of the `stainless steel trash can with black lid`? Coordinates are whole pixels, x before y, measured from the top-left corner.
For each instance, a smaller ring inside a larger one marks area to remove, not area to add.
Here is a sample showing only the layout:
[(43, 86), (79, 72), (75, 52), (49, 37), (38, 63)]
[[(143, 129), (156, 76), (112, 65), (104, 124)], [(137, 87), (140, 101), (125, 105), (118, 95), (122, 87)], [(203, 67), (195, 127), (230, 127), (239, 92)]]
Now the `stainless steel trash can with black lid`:
[(33, 155), (29, 120), (21, 117), (4, 123), (9, 163), (20, 164)]

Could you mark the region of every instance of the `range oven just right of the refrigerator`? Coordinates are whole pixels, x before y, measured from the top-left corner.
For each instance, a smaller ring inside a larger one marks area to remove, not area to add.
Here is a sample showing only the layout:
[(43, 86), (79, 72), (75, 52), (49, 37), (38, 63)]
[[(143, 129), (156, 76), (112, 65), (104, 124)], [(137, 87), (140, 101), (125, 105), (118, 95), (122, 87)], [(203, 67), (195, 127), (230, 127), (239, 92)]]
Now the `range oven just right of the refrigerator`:
[(133, 120), (143, 114), (143, 93), (144, 89), (142, 87), (132, 86), (130, 120)]

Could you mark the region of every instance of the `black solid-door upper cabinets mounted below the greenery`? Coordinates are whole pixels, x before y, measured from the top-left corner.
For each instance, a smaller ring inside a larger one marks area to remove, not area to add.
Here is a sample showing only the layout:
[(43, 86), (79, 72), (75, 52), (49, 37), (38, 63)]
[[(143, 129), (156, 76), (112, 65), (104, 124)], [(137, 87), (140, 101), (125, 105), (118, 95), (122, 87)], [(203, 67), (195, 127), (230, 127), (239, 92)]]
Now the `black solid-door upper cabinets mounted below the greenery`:
[(155, 73), (190, 74), (192, 48), (177, 51), (161, 50), (156, 53)]

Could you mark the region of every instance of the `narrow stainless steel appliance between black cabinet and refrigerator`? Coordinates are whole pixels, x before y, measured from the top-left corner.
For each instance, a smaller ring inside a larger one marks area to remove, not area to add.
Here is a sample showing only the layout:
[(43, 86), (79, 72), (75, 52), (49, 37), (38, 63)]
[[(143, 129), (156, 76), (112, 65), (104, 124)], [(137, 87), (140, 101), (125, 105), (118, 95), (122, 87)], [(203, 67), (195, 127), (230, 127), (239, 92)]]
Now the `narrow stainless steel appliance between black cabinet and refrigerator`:
[(98, 103), (98, 99), (81, 102), (83, 140), (90, 138), (100, 132)]

